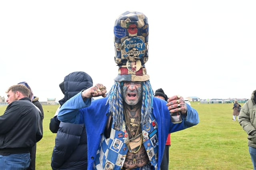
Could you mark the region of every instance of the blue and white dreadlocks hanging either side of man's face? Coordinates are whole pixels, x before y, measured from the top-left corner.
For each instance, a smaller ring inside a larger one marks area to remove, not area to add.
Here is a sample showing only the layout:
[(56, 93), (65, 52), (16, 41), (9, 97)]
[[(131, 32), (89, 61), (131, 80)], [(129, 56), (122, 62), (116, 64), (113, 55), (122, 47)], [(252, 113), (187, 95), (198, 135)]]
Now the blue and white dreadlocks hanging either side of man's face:
[[(113, 122), (117, 127), (121, 128), (124, 119), (123, 97), (122, 97), (122, 82), (115, 81), (114, 85), (108, 93), (109, 111), (113, 115)], [(152, 112), (154, 92), (150, 81), (142, 82), (142, 107), (141, 107), (141, 123), (149, 121)]]

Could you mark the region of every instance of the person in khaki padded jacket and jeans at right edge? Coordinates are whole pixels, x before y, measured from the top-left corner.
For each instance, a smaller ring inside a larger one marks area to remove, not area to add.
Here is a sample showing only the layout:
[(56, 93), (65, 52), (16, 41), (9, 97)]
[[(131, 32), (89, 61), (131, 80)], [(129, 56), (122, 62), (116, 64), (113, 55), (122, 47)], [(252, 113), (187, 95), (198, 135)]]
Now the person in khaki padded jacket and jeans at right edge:
[(242, 107), (239, 115), (239, 123), (248, 135), (249, 153), (252, 159), (253, 169), (256, 170), (256, 90), (252, 92), (250, 100)]

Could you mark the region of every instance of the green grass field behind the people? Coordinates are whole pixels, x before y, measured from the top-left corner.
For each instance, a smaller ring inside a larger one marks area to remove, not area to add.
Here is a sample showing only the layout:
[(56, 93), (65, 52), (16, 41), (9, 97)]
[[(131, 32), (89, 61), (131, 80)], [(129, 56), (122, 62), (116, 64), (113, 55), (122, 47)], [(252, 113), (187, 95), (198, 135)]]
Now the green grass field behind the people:
[[(171, 134), (170, 170), (253, 170), (247, 135), (238, 121), (232, 121), (233, 104), (191, 102), (200, 123)], [(243, 105), (243, 104), (241, 104)], [(0, 114), (6, 106), (0, 106)], [(43, 105), (44, 136), (37, 143), (36, 169), (51, 170), (56, 134), (49, 130), (57, 105)]]

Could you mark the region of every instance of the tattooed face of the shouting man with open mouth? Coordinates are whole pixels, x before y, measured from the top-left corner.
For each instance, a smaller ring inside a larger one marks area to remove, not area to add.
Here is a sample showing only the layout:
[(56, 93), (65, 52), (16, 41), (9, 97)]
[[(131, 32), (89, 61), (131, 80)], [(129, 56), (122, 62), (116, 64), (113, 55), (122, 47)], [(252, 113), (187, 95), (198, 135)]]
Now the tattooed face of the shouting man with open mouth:
[(136, 105), (142, 98), (141, 82), (124, 82), (122, 95), (126, 104)]

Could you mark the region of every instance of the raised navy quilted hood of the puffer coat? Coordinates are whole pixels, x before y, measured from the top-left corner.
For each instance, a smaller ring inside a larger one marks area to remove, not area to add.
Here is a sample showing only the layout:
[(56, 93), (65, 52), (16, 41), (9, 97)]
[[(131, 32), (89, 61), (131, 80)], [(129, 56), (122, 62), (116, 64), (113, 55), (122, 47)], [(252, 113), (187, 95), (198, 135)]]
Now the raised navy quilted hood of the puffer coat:
[(64, 98), (59, 101), (60, 106), (62, 106), (68, 99), (72, 98), (82, 90), (86, 90), (87, 88), (92, 87), (92, 85), (92, 78), (86, 72), (76, 71), (68, 74), (64, 77), (64, 81), (60, 83), (60, 89), (62, 92), (64, 90)]

